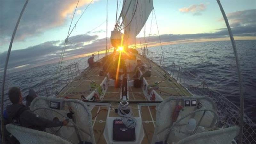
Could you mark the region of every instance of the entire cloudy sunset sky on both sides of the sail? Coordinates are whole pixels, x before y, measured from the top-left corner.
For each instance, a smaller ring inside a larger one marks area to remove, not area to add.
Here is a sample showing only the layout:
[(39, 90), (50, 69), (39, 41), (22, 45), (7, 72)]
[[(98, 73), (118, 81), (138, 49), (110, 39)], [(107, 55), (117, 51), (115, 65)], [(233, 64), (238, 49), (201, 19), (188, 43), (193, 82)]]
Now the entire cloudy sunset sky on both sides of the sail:
[[(90, 2), (80, 0), (78, 3), (71, 29), (87, 9), (69, 37), (72, 44), (67, 45), (64, 59), (84, 57), (105, 49), (106, 35), (107, 47), (111, 46), (109, 37), (115, 25), (116, 6), (119, 5), (119, 15), (123, 2)], [(255, 40), (256, 1), (220, 2), (235, 40)], [(24, 3), (25, 0), (0, 0), (0, 72), (3, 71), (11, 36)], [(76, 4), (77, 0), (29, 0), (15, 35), (8, 69), (22, 70), (58, 62)], [(157, 26), (163, 44), (228, 40), (225, 22), (214, 0), (154, 0), (154, 9), (156, 19), (152, 11), (137, 35), (137, 42), (139, 37), (144, 39), (145, 36), (149, 37), (150, 45), (158, 45)]]

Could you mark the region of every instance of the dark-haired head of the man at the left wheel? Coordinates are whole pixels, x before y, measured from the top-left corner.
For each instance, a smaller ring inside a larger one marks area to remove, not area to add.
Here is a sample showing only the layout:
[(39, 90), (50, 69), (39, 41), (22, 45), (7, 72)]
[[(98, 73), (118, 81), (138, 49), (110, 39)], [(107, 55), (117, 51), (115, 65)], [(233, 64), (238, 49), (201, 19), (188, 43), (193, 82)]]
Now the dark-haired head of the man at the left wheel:
[(19, 87), (11, 87), (8, 95), (13, 104), (22, 103), (22, 95)]

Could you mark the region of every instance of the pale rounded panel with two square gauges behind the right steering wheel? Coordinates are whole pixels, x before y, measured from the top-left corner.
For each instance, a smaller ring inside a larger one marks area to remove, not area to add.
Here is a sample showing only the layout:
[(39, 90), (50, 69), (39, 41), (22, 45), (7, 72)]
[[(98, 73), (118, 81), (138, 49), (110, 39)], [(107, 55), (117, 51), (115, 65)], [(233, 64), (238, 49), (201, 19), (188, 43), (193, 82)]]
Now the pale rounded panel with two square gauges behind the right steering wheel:
[[(184, 106), (185, 101), (196, 100), (196, 106)], [(174, 111), (180, 107), (177, 118)], [(195, 133), (186, 133), (186, 125), (193, 118), (198, 127)], [(178, 142), (189, 135), (203, 132), (216, 127), (218, 115), (213, 101), (207, 96), (169, 97), (158, 107), (156, 113), (156, 127), (152, 143), (167, 141)]]

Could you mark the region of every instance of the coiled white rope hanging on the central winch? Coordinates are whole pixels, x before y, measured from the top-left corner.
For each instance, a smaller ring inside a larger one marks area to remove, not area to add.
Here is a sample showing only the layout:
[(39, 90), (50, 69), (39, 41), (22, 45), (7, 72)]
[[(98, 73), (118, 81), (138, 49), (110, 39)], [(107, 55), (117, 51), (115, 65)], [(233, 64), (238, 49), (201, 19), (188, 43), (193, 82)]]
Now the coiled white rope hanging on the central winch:
[[(120, 102), (118, 106), (118, 115), (121, 116), (122, 122), (124, 125), (128, 128), (135, 128), (137, 125), (136, 119), (133, 117), (132, 109), (128, 105), (129, 103), (126, 102), (125, 105)], [(129, 113), (126, 113), (126, 111), (129, 110)]]

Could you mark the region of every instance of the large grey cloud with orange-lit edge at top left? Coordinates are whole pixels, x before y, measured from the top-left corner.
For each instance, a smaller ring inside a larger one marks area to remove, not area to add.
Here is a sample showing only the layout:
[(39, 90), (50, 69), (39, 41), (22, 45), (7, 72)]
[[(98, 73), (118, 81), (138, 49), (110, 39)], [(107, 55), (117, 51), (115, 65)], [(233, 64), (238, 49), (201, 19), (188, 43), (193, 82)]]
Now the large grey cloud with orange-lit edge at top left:
[[(90, 1), (79, 1), (83, 7)], [(0, 1), (0, 43), (10, 42), (13, 29), (25, 1)], [(77, 1), (29, 1), (20, 20), (16, 40), (39, 35), (45, 30), (63, 26), (73, 14)], [(79, 13), (79, 12), (78, 12)]]

